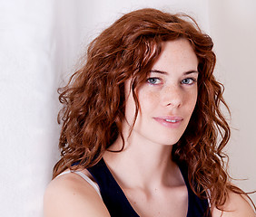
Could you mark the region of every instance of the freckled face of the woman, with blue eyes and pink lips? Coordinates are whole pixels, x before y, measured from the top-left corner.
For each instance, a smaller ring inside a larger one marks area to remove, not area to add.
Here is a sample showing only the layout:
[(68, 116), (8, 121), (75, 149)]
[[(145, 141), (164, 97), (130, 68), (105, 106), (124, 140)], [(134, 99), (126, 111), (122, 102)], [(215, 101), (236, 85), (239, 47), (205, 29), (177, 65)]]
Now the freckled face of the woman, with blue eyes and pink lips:
[[(163, 42), (162, 53), (138, 90), (140, 111), (131, 136), (173, 145), (182, 137), (197, 100), (198, 60), (189, 41)], [(130, 82), (125, 85), (124, 129), (133, 123), (135, 103)]]

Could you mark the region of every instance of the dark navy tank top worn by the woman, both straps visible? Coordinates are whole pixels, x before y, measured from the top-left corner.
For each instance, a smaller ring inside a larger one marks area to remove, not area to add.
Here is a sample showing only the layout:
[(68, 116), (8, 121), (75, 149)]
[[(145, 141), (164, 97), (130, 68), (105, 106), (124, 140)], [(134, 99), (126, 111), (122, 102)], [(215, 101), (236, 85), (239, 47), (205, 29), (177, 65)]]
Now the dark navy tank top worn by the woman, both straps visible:
[[(211, 217), (208, 200), (202, 200), (192, 192), (188, 181), (187, 167), (185, 165), (179, 165), (179, 167), (188, 190), (189, 205), (187, 217)], [(88, 171), (99, 185), (103, 203), (112, 217), (139, 217), (133, 210), (123, 190), (113, 178), (103, 159), (98, 164), (88, 168)]]

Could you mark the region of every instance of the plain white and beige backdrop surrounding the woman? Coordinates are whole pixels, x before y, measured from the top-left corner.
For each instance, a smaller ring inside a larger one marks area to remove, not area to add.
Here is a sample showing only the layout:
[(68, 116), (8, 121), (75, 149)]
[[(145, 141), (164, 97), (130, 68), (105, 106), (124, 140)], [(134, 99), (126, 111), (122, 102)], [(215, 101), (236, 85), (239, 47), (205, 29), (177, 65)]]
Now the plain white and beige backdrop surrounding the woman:
[[(43, 216), (58, 159), (56, 90), (86, 45), (123, 13), (142, 7), (191, 14), (212, 36), (232, 135), (231, 176), (256, 190), (254, 0), (0, 0), (0, 206), (3, 216)], [(251, 195), (256, 203), (256, 193)]]

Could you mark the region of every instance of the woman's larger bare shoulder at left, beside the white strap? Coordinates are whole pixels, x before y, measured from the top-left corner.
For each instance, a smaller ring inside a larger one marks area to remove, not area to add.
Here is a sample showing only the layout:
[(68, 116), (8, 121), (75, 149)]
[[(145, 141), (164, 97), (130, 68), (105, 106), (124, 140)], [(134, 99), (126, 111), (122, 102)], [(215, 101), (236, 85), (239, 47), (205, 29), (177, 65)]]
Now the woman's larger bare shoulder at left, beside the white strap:
[(79, 175), (70, 173), (55, 178), (44, 193), (44, 217), (110, 217), (102, 198)]

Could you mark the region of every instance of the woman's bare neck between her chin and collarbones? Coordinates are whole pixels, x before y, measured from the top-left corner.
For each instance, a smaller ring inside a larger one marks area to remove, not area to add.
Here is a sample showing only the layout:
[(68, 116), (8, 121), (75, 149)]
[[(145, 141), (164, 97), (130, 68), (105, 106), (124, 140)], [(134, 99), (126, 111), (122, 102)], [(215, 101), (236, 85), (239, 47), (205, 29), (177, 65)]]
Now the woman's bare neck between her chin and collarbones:
[[(111, 150), (120, 150), (123, 142), (119, 137)], [(177, 165), (171, 159), (172, 146), (155, 144), (142, 136), (126, 137), (122, 152), (106, 152), (104, 159), (117, 181), (124, 187), (149, 187), (172, 184), (177, 180)]]

